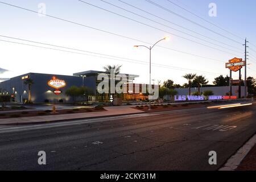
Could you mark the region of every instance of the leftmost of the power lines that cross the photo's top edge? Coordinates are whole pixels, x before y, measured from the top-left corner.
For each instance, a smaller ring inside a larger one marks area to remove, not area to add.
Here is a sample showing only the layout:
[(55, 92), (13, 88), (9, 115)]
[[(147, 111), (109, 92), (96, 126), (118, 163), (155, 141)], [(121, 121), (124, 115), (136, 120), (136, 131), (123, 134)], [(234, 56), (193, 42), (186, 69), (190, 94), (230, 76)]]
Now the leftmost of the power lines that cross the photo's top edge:
[[(146, 23), (140, 22), (140, 21), (138, 21), (138, 20), (135, 20), (135, 19), (129, 18), (129, 17), (127, 17), (127, 16), (123, 16), (123, 15), (121, 15), (121, 14), (114, 13), (113, 11), (106, 10), (106, 9), (104, 9), (104, 8), (102, 8), (102, 7), (99, 7), (99, 6), (96, 6), (96, 5), (92, 5), (91, 3), (88, 3), (88, 2), (85, 2), (85, 1), (81, 1), (81, 0), (77, 0), (77, 1), (80, 1), (80, 2), (82, 2), (82, 3), (85, 3), (85, 4), (87, 4), (87, 5), (90, 5), (90, 6), (96, 7), (96, 8), (98, 8), (98, 9), (101, 9), (101, 10), (104, 10), (104, 11), (108, 11), (109, 13), (112, 13), (112, 14), (115, 14), (115, 15), (118, 15), (118, 16), (121, 16), (121, 17), (123, 17), (123, 18), (129, 19), (129, 20), (132, 20), (132, 21), (134, 21), (134, 22), (137, 22), (137, 23), (143, 24), (144, 26), (148, 26), (148, 27), (154, 28), (155, 30), (163, 31), (163, 32), (166, 32), (167, 34), (171, 34), (171, 35), (177, 36), (177, 37), (179, 37), (179, 38), (181, 38), (181, 39), (188, 40), (189, 42), (193, 42), (193, 43), (196, 43), (196, 44), (200, 44), (201, 46), (205, 46), (205, 47), (208, 47), (208, 48), (216, 49), (217, 51), (225, 52), (225, 53), (228, 53), (228, 54), (230, 54), (230, 55), (235, 55), (234, 53), (226, 52), (226, 51), (223, 51), (223, 50), (221, 50), (221, 49), (218, 49), (218, 48), (214, 48), (214, 47), (208, 46), (207, 44), (199, 43), (199, 42), (196, 42), (195, 40), (191, 40), (191, 39), (188, 39), (188, 38), (184, 38), (183, 36), (176, 35), (176, 34), (173, 34), (173, 33), (171, 33), (171, 32), (168, 32), (168, 31), (162, 30), (162, 29), (160, 29), (160, 28), (157, 28), (157, 27), (151, 26), (150, 24), (146, 24)], [(207, 41), (207, 40), (204, 40), (204, 41), (205, 41), (205, 42), (208, 42), (208, 43), (210, 43), (210, 44), (214, 44), (214, 43), (211, 43), (211, 42), (209, 42), (209, 41)], [(216, 45), (216, 46), (219, 46), (219, 45), (217, 45), (217, 44), (215, 44), (215, 45)], [(228, 49), (228, 48), (226, 48), (226, 49)], [(234, 51), (234, 50), (232, 50), (232, 51)]]

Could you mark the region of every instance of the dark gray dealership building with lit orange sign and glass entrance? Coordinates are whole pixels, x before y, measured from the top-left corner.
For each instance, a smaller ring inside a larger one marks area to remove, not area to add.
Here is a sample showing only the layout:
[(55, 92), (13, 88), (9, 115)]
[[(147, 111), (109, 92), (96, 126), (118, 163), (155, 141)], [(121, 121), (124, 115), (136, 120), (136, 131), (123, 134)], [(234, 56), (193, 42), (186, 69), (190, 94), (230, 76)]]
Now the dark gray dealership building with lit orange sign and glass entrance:
[[(93, 96), (88, 96), (89, 101), (106, 101), (110, 100), (111, 94), (100, 94), (97, 92), (99, 81), (98, 75), (106, 75), (101, 71), (85, 71), (74, 73), (73, 76), (68, 75), (51, 75), (44, 73), (27, 73), (10, 80), (0, 82), (0, 94), (10, 95), (15, 102), (24, 102), (28, 100), (28, 84), (24, 82), (28, 79), (33, 81), (31, 85), (31, 101), (34, 103), (40, 102), (73, 102), (73, 98), (65, 94), (71, 86), (86, 86), (91, 88)], [(120, 74), (127, 79), (127, 85), (133, 83), (138, 75)], [(135, 84), (133, 84), (135, 85)], [(146, 100), (147, 96), (142, 94), (142, 84), (139, 85), (138, 92), (134, 89), (127, 90), (127, 93), (119, 95), (122, 100)], [(128, 86), (127, 86), (128, 87)]]

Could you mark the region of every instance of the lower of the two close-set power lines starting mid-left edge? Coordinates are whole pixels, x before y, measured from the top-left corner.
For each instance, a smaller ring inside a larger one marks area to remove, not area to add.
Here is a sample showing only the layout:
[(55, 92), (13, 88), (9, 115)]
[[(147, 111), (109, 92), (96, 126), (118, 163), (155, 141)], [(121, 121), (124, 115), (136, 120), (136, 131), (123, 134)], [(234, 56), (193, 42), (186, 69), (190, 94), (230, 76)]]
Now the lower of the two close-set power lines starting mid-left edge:
[[(118, 60), (118, 61), (123, 61), (123, 62), (128, 62), (128, 63), (136, 63), (136, 64), (144, 64), (144, 65), (147, 65), (147, 64), (148, 64), (146, 61), (139, 61), (139, 60), (137, 60), (137, 61), (127, 61), (127, 60), (121, 60), (121, 59), (113, 59), (113, 58), (111, 58), (111, 57), (104, 57), (104, 56), (97, 56), (97, 55), (88, 55), (88, 54), (85, 54), (85, 53), (79, 53), (79, 52), (73, 52), (73, 51), (65, 51), (65, 50), (62, 50), (62, 49), (49, 48), (49, 47), (43, 47), (43, 46), (35, 46), (35, 45), (25, 44), (25, 43), (19, 43), (19, 42), (12, 42), (12, 41), (9, 41), (9, 40), (1, 40), (1, 39), (0, 39), (0, 41), (1, 41), (1, 42), (7, 42), (7, 43), (20, 44), (20, 45), (23, 45), (23, 46), (32, 46), (32, 47), (38, 47), (38, 48), (44, 48), (44, 49), (52, 49), (52, 50), (55, 50), (55, 51), (63, 51), (63, 52), (68, 52), (68, 53), (77, 53), (77, 54), (86, 55), (86, 56), (100, 57), (100, 58), (103, 58), (103, 59)], [(110, 55), (109, 55), (109, 56), (110, 56)], [(125, 59), (125, 58), (122, 58), (122, 59)], [(163, 64), (155, 64), (155, 63), (152, 63), (152, 65), (155, 65), (155, 67), (169, 68), (169, 69), (175, 69), (175, 70), (179, 70), (179, 71), (195, 71), (195, 72), (199, 72), (199, 73), (209, 73), (209, 74), (212, 74), (212, 75), (220, 74), (220, 73), (199, 71), (199, 70), (196, 70), (196, 69), (187, 69), (187, 68), (180, 68), (180, 67), (172, 67), (172, 66), (170, 66), (170, 65), (163, 65)]]

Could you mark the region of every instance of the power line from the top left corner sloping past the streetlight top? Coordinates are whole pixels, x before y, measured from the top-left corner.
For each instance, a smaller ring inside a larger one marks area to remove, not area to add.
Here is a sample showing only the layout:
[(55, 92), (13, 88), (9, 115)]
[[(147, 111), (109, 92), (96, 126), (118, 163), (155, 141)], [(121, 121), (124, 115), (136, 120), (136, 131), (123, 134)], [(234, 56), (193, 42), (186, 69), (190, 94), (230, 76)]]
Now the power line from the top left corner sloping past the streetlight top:
[[(149, 43), (149, 42), (145, 42), (145, 41), (143, 41), (143, 40), (134, 39), (134, 38), (130, 38), (130, 37), (128, 37), (128, 36), (123, 36), (123, 35), (120, 35), (120, 34), (115, 34), (115, 33), (113, 33), (113, 32), (101, 30), (101, 29), (99, 29), (99, 28), (94, 28), (94, 27), (86, 26), (85, 24), (72, 22), (71, 20), (66, 20), (66, 19), (63, 19), (63, 18), (56, 17), (56, 16), (52, 16), (52, 15), (47, 15), (47, 14), (39, 13), (39, 12), (37, 12), (37, 11), (29, 10), (29, 9), (24, 8), (24, 7), (19, 7), (19, 6), (11, 5), (11, 4), (9, 4), (9, 3), (5, 3), (5, 2), (1, 2), (1, 1), (0, 1), (0, 3), (5, 4), (5, 5), (9, 5), (9, 6), (13, 6), (13, 7), (16, 7), (16, 8), (18, 8), (18, 9), (27, 10), (27, 11), (30, 11), (30, 12), (32, 12), (32, 13), (42, 14), (42, 15), (48, 16), (48, 17), (50, 17), (50, 18), (55, 18), (55, 19), (58, 19), (58, 20), (63, 20), (64, 22), (76, 24), (76, 25), (83, 26), (83, 27), (86, 27), (86, 28), (90, 28), (90, 29), (93, 29), (93, 30), (96, 30), (96, 31), (105, 32), (106, 34), (111, 34), (111, 35), (119, 36), (119, 37), (121, 37), (121, 38), (134, 40), (134, 41), (141, 42), (141, 43), (144, 43), (144, 44), (152, 44), (152, 43)], [(158, 45), (156, 45), (156, 46), (157, 46), (157, 47), (160, 47), (160, 48), (168, 49), (168, 50), (171, 50), (171, 51), (183, 53), (183, 54), (186, 54), (186, 55), (191, 55), (191, 56), (196, 56), (196, 57), (200, 57), (200, 58), (203, 58), (203, 59), (209, 59), (209, 60), (213, 60), (213, 61), (223, 62), (223, 61), (221, 61), (221, 60), (217, 60), (217, 59), (213, 59), (213, 58), (210, 58), (210, 57), (205, 57), (205, 56), (196, 55), (196, 54), (194, 54), (194, 53), (179, 51), (179, 50), (177, 50), (177, 49), (172, 49), (172, 48), (169, 48), (169, 47), (158, 46)]]

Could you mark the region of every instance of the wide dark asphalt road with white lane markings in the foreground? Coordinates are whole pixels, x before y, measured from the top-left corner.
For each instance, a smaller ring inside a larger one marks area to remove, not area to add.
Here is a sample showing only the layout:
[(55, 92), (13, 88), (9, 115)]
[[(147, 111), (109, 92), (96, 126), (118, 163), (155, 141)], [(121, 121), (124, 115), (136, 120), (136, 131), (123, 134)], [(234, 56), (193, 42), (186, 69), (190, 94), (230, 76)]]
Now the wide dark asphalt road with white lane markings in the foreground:
[[(256, 106), (2, 126), (0, 170), (217, 170), (255, 134)], [(38, 164), (46, 152), (47, 165)], [(209, 151), (217, 165), (209, 165)]]

